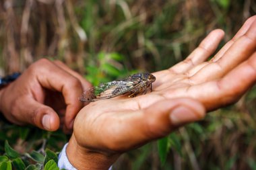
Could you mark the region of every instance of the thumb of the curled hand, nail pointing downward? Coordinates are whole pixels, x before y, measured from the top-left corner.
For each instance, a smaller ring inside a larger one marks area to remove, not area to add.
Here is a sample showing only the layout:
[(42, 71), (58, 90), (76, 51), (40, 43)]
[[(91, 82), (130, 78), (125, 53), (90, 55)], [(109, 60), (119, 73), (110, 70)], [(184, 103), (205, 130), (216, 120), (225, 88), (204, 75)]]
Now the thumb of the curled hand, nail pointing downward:
[(59, 128), (59, 116), (52, 108), (32, 98), (25, 100), (22, 102), (24, 103), (22, 108), (20, 108), (20, 115), (23, 117), (20, 119), (44, 130), (54, 131)]

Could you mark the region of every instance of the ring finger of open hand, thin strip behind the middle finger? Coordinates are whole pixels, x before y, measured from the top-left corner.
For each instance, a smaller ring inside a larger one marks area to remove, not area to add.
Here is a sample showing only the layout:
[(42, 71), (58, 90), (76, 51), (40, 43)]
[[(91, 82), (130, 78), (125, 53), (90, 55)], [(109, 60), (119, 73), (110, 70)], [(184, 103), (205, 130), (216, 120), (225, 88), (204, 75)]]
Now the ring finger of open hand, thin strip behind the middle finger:
[(220, 59), (225, 54), (225, 52), (228, 50), (228, 48), (230, 48), (230, 46), (232, 46), (232, 44), (236, 40), (238, 40), (238, 38), (243, 36), (249, 30), (249, 28), (251, 27), (251, 25), (253, 24), (253, 22), (255, 20), (256, 20), (256, 15), (249, 17), (249, 19), (247, 19), (245, 24), (243, 24), (242, 28), (236, 33), (236, 35), (232, 38), (232, 40), (227, 42), (225, 44), (225, 46), (223, 46), (222, 49), (220, 49), (220, 51), (214, 56), (214, 58), (212, 58), (212, 61), (216, 62), (218, 59)]

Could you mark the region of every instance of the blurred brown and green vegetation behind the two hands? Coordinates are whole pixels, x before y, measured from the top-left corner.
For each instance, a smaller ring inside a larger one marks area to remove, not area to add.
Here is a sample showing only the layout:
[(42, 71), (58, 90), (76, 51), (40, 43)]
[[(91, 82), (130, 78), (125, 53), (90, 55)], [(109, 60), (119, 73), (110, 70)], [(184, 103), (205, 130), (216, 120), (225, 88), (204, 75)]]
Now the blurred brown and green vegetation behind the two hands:
[[(230, 40), (255, 13), (253, 0), (3, 0), (0, 75), (42, 57), (62, 60), (94, 85), (154, 72), (183, 60), (214, 28)], [(238, 103), (123, 155), (114, 169), (256, 169), (255, 112), (253, 88)], [(6, 139), (24, 154), (60, 151), (69, 138), (3, 118), (0, 128), (2, 154)]]

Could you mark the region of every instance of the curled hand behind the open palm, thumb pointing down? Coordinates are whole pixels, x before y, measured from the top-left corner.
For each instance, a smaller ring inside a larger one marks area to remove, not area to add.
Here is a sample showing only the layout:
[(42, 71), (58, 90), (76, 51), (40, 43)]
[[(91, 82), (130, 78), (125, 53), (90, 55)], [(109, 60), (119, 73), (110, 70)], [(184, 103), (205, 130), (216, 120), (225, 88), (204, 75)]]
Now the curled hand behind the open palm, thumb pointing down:
[(83, 107), (78, 101), (90, 83), (63, 62), (40, 59), (0, 91), (0, 110), (14, 124), (65, 132)]

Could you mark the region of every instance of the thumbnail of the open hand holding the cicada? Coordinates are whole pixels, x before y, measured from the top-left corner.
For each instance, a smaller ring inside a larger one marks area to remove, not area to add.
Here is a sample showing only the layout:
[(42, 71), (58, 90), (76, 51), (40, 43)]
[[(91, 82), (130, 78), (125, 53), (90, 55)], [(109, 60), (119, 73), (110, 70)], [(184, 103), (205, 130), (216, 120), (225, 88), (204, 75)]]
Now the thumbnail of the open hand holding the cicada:
[(201, 119), (201, 114), (194, 110), (180, 106), (174, 108), (170, 113), (170, 121), (174, 126), (181, 126), (182, 124), (194, 122)]

